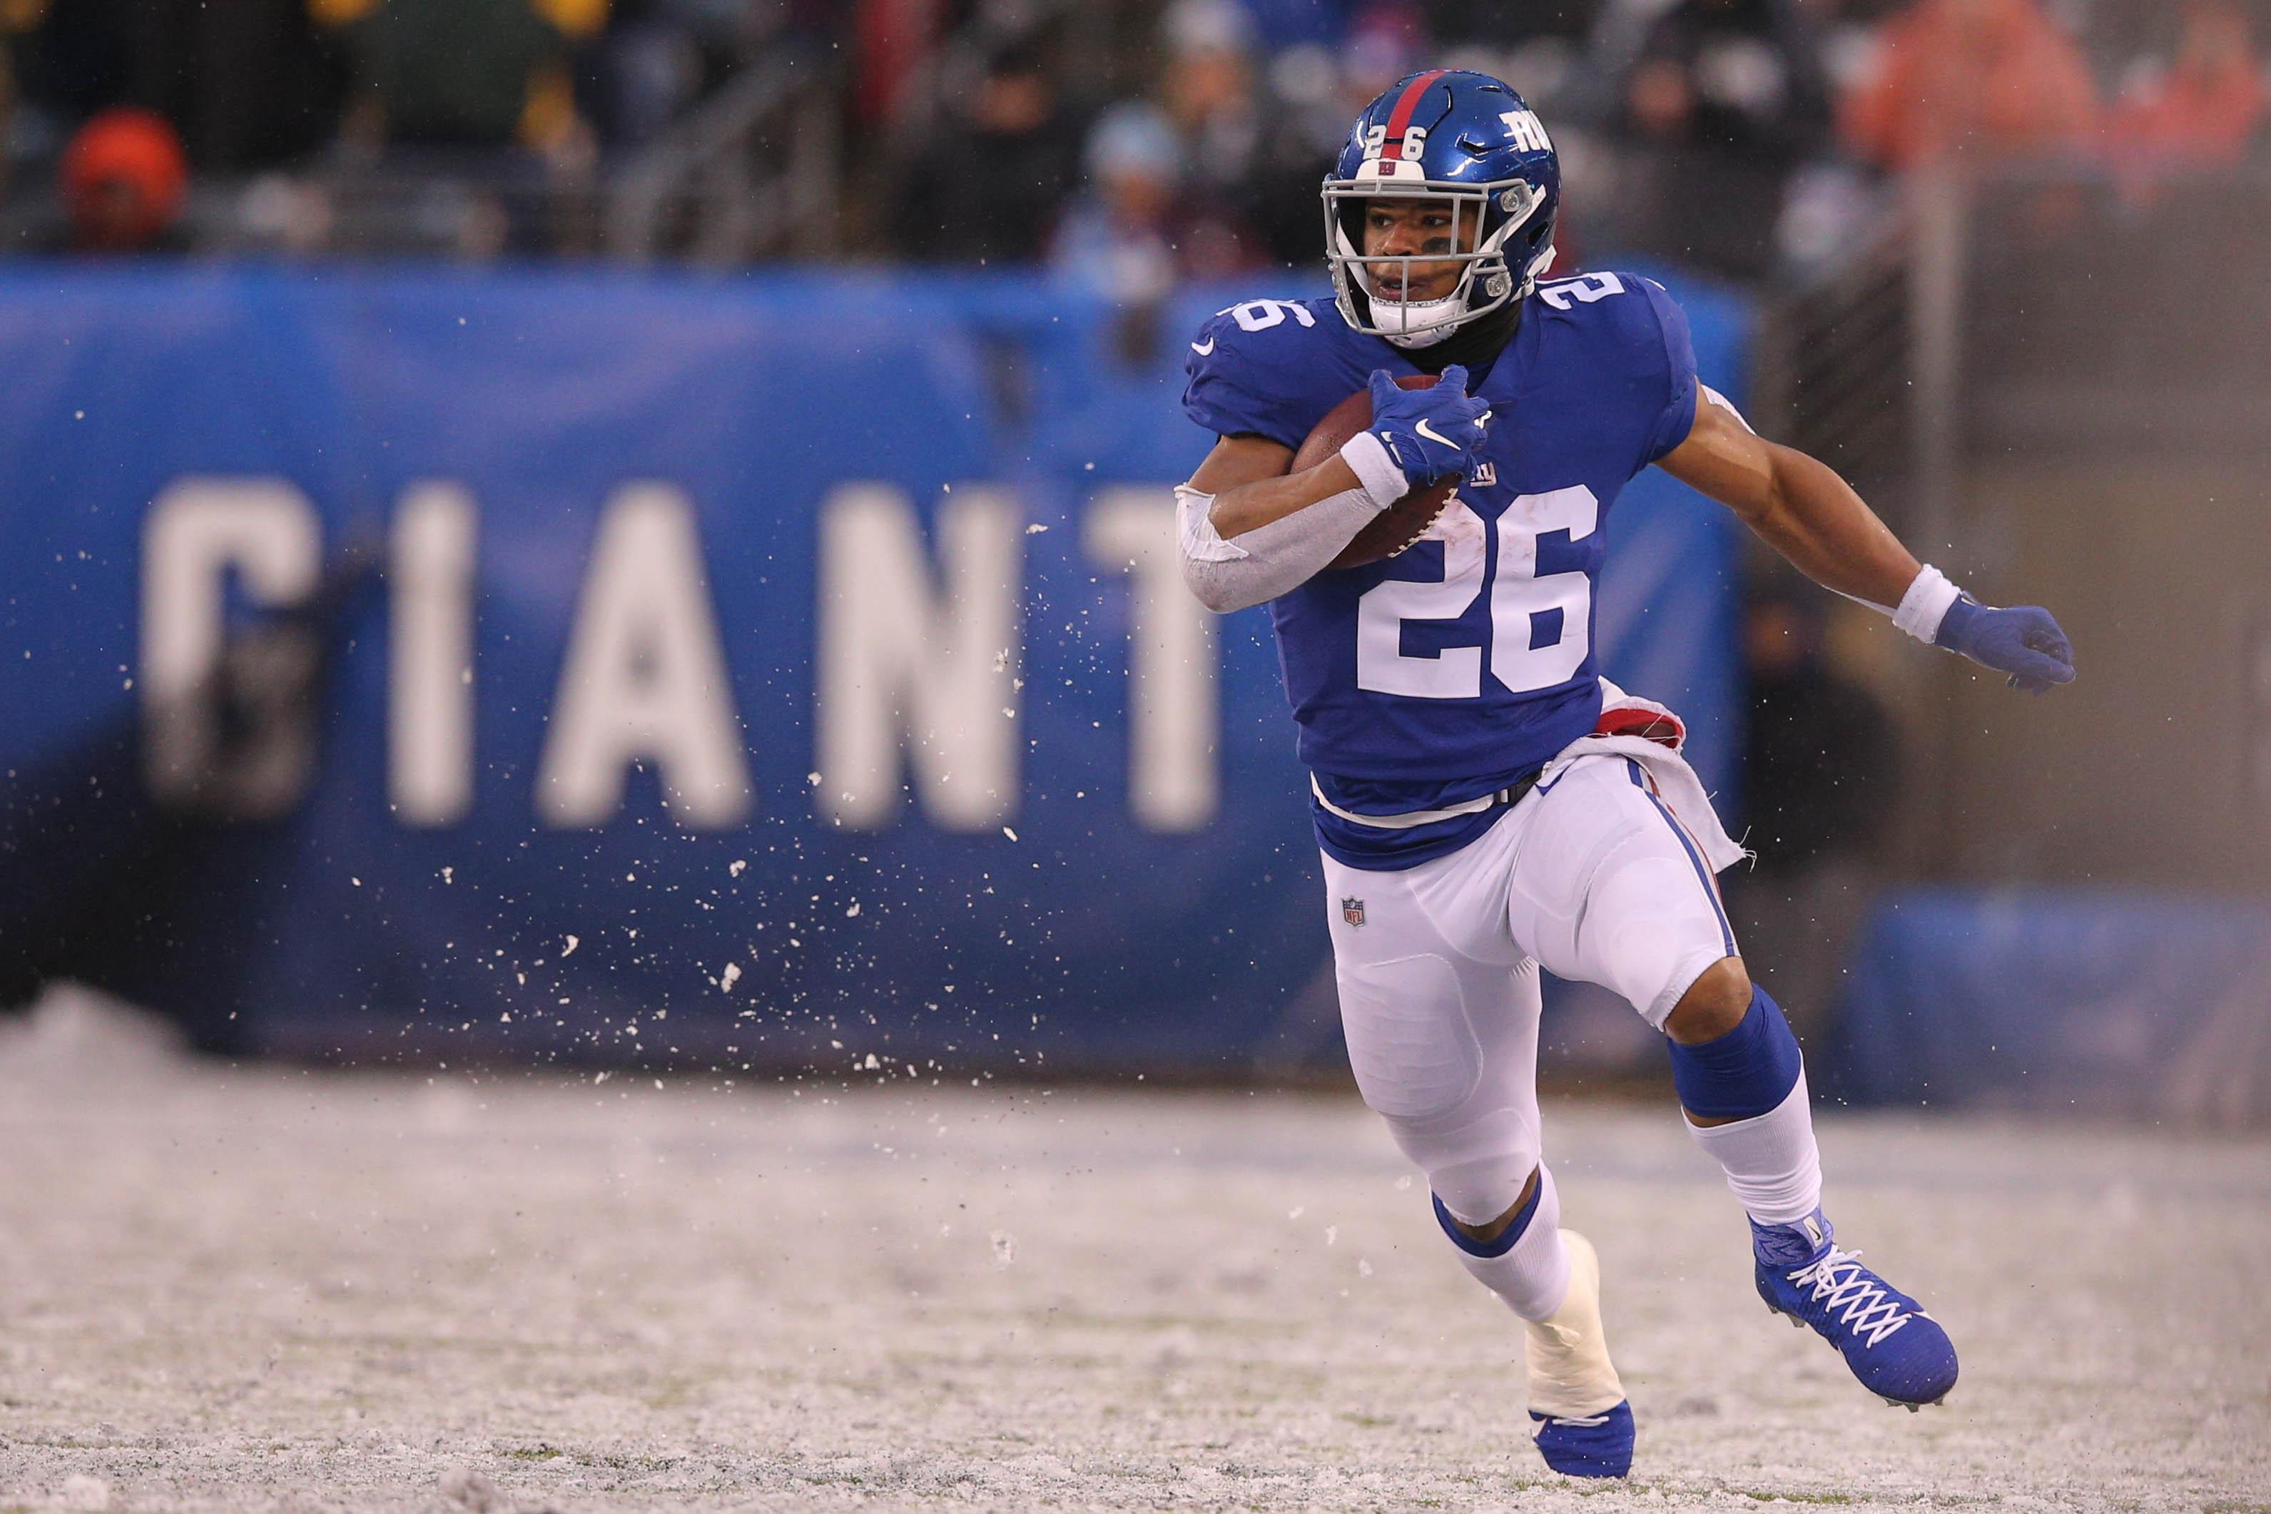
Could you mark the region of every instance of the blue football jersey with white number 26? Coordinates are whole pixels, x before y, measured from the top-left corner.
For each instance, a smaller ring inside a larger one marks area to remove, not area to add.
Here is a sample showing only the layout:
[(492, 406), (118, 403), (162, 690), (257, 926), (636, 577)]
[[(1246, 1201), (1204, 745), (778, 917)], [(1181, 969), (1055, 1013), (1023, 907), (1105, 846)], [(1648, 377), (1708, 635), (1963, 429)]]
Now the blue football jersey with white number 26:
[[(1217, 436), (1299, 447), (1374, 368), (1419, 372), (1331, 300), (1249, 300), (1190, 343), (1183, 409)], [(1424, 540), (1272, 602), (1285, 695), (1317, 790), (1356, 815), (1431, 810), (1537, 772), (1601, 713), (1592, 590), (1608, 508), (1694, 422), (1687, 318), (1660, 284), (1540, 284), (1474, 384), (1485, 461)], [(1313, 806), (1322, 847), (1394, 869), (1497, 815), (1383, 831)]]

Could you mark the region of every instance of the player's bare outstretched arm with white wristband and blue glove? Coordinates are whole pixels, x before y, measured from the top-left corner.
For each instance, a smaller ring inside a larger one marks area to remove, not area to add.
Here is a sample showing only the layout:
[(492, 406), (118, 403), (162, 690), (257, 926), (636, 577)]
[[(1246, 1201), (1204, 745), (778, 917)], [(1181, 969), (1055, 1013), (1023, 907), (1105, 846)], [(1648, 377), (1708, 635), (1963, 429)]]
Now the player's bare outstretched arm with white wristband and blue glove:
[(1735, 511), (1815, 583), (1874, 604), (1910, 636), (2044, 692), (2073, 681), (2073, 645), (2035, 604), (1978, 604), (1917, 558), (1826, 463), (1751, 431), (1735, 406), (1696, 390), (1687, 440), (1660, 459), (1681, 483)]

